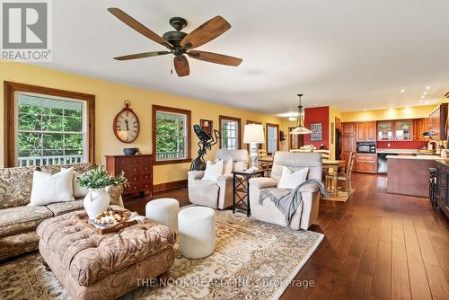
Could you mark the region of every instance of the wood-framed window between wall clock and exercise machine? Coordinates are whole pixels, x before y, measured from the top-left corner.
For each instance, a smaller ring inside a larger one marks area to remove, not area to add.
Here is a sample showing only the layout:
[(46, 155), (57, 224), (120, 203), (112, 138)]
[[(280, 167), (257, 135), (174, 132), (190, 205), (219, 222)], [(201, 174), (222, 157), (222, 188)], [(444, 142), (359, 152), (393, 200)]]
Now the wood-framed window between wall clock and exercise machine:
[(190, 110), (153, 105), (155, 164), (190, 161)]

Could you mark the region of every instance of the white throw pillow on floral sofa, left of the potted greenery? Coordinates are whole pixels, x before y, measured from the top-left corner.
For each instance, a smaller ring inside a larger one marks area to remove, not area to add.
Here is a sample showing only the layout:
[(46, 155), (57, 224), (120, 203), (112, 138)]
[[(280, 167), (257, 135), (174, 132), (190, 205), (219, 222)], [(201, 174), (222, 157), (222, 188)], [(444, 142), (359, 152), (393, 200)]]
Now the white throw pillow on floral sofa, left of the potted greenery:
[(74, 168), (55, 174), (34, 171), (32, 176), (30, 206), (74, 200)]

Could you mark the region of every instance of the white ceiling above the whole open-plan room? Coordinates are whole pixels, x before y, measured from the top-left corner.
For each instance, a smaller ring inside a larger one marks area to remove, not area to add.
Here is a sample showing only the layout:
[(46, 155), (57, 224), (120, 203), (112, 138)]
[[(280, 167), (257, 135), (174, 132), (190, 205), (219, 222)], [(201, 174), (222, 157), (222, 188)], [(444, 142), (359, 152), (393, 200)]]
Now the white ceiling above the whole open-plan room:
[[(190, 75), (179, 78), (171, 56), (116, 61), (164, 49), (111, 6), (160, 35), (172, 16), (186, 18), (189, 32), (220, 14), (232, 28), (198, 49), (242, 65), (189, 59)], [(43, 65), (271, 114), (294, 111), (297, 93), (305, 106), (343, 111), (431, 104), (449, 90), (447, 12), (447, 0), (53, 1), (53, 62)]]

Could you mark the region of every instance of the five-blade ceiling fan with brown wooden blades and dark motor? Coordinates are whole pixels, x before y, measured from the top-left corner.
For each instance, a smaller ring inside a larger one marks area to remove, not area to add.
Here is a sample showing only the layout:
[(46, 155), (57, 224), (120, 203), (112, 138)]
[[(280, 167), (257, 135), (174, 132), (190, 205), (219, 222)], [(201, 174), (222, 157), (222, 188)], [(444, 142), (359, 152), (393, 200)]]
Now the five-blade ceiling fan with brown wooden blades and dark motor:
[(187, 56), (199, 60), (204, 60), (209, 63), (215, 63), (226, 66), (239, 66), (242, 63), (242, 58), (229, 57), (223, 54), (217, 54), (206, 51), (193, 50), (207, 42), (216, 39), (216, 37), (225, 33), (231, 28), (223, 17), (217, 15), (216, 17), (205, 22), (196, 30), (189, 34), (181, 30), (187, 26), (187, 21), (181, 17), (173, 17), (170, 19), (170, 24), (175, 31), (168, 31), (159, 36), (153, 31), (149, 30), (141, 22), (136, 21), (128, 13), (123, 12), (117, 7), (110, 7), (108, 11), (115, 15), (121, 22), (124, 22), (135, 31), (145, 35), (150, 40), (163, 45), (168, 51), (152, 51), (126, 55), (123, 57), (114, 57), (117, 60), (129, 60), (144, 57), (156, 57), (160, 55), (173, 54), (173, 65), (178, 76), (187, 76), (190, 73), (189, 61)]

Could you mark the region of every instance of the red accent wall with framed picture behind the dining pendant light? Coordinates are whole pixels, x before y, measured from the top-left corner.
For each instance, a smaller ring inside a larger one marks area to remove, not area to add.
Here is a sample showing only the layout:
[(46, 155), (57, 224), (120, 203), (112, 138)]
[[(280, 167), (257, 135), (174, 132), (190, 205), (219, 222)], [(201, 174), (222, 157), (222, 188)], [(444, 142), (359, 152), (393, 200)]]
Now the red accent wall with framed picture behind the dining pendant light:
[(311, 141), (310, 135), (304, 135), (304, 145), (313, 145), (317, 149), (321, 144), (329, 149), (329, 106), (313, 107), (304, 110), (304, 125), (311, 128), (312, 123), (322, 123), (322, 141)]

